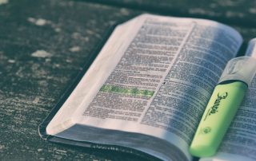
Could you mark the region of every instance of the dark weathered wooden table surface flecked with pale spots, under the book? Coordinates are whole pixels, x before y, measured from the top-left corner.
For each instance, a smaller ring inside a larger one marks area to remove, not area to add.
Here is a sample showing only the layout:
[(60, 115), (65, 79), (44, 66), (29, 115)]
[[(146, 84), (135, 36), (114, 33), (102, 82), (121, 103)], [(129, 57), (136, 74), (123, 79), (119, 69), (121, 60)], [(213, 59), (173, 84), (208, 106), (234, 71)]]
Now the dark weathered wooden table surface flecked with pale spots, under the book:
[(208, 18), (256, 37), (256, 2), (231, 0), (0, 0), (0, 160), (142, 160), (49, 143), (38, 124), (107, 30), (142, 13)]

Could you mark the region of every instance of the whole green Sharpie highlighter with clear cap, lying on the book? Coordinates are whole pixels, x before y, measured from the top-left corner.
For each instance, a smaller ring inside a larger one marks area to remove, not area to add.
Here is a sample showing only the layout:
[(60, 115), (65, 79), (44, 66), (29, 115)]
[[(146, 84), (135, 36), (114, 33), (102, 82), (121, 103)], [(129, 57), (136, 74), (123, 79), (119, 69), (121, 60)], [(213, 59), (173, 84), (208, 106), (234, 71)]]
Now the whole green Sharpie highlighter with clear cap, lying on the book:
[(224, 69), (190, 145), (190, 154), (212, 156), (218, 150), (256, 72), (256, 59), (236, 57)]

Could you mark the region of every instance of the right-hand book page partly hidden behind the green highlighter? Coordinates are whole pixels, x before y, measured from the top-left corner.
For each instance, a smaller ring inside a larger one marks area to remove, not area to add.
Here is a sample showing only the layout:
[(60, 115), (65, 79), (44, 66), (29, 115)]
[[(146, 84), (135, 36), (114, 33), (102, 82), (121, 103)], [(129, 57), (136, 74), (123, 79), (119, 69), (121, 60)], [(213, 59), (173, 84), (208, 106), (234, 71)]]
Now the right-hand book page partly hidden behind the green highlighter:
[[(256, 39), (250, 41), (246, 56), (256, 58)], [(251, 82), (247, 95), (238, 109), (218, 154), (201, 160), (256, 160), (256, 76)]]

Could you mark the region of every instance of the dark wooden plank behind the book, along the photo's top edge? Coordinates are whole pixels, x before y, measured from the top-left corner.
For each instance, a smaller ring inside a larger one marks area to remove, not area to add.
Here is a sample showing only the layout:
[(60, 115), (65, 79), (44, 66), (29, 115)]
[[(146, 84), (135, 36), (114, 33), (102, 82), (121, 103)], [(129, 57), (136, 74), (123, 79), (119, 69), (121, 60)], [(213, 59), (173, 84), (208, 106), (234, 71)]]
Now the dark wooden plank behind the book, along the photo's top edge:
[(80, 0), (99, 2), (111, 6), (129, 7), (158, 14), (180, 17), (209, 18), (218, 22), (254, 27), (256, 2), (246, 0)]

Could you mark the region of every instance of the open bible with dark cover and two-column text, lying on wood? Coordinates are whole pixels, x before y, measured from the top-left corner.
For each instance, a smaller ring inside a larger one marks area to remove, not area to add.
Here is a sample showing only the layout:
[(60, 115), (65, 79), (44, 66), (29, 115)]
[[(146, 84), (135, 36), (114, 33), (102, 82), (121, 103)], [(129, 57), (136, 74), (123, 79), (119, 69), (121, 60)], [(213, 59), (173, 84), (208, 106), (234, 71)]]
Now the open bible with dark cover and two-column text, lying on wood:
[[(40, 135), (192, 160), (188, 149), (202, 113), (241, 44), (235, 29), (210, 20), (133, 18), (114, 29), (70, 96), (39, 126)], [(255, 106), (256, 78), (218, 154), (203, 160), (256, 159)]]

